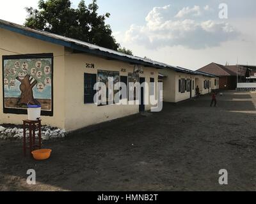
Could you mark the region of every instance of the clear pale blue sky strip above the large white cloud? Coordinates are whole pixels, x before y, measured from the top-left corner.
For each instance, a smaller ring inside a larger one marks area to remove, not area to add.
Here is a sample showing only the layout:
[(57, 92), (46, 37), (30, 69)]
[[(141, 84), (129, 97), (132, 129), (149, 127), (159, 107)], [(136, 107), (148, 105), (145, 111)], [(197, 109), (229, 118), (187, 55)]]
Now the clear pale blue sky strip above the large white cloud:
[[(79, 1), (72, 1), (74, 6)], [(90, 1), (86, 1), (90, 2)], [(113, 31), (123, 31), (131, 24), (142, 25), (145, 22), (145, 17), (154, 7), (162, 7), (168, 4), (173, 6), (173, 10), (181, 10), (185, 6), (192, 7), (194, 5), (209, 5), (211, 8), (218, 10), (220, 3), (227, 3), (229, 8), (229, 18), (244, 18), (255, 17), (255, 0), (98, 0), (100, 13), (111, 13), (108, 23), (113, 28)], [(212, 13), (212, 19), (218, 18), (218, 13)], [(202, 17), (204, 18), (204, 17)]]

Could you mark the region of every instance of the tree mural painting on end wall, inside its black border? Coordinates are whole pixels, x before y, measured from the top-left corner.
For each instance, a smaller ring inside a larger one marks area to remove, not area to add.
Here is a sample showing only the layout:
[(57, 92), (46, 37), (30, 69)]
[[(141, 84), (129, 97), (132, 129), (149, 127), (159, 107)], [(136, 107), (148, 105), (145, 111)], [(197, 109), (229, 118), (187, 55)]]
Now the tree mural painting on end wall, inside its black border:
[[(28, 104), (52, 111), (52, 57), (3, 57), (4, 108), (24, 109)], [(44, 114), (43, 114), (44, 115)]]

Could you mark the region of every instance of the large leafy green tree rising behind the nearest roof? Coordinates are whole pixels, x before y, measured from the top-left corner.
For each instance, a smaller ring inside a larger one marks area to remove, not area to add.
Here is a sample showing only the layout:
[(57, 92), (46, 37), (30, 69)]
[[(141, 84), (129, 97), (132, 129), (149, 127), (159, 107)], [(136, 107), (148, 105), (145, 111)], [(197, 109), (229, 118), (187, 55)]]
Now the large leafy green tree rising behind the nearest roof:
[(110, 14), (99, 15), (98, 9), (97, 0), (88, 6), (82, 0), (76, 9), (71, 7), (70, 0), (40, 0), (38, 9), (26, 8), (29, 16), (25, 25), (118, 50), (120, 44), (116, 43), (110, 25), (105, 22)]

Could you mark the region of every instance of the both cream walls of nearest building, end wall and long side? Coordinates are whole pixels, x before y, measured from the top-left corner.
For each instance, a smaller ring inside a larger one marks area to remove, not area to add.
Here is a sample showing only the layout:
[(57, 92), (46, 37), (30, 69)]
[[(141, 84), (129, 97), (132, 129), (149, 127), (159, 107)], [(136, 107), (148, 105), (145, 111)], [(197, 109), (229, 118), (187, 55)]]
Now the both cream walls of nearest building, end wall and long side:
[[(139, 112), (139, 105), (106, 105), (96, 106), (84, 104), (84, 73), (97, 73), (97, 69), (119, 71), (120, 75), (127, 76), (133, 72), (134, 66), (127, 62), (106, 60), (95, 55), (71, 54), (64, 47), (36, 40), (22, 34), (0, 29), (0, 45), (19, 54), (53, 53), (53, 116), (42, 116), (42, 123), (72, 131), (84, 126), (97, 124), (111, 119), (124, 117)], [(13, 52), (0, 50), (2, 55), (15, 55)], [(86, 63), (95, 64), (95, 69), (86, 68)], [(126, 71), (123, 73), (122, 68)], [(0, 75), (2, 73), (2, 63)], [(154, 78), (157, 98), (158, 69), (143, 67), (145, 81)], [(149, 98), (148, 91), (145, 97)], [(22, 124), (27, 115), (3, 113), (3, 82), (0, 78), (0, 124)], [(151, 105), (145, 105), (145, 110), (150, 110)]]

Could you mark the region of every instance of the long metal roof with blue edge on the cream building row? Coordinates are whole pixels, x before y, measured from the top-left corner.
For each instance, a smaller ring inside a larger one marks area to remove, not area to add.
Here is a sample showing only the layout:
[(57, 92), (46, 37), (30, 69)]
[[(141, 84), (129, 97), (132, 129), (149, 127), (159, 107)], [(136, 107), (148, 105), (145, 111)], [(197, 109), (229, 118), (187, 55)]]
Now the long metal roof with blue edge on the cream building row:
[(97, 45), (93, 45), (91, 43), (86, 43), (81, 40), (76, 40), (73, 38), (67, 38), (65, 36), (60, 36), (58, 34), (52, 34), (46, 31), (41, 31), (38, 29), (31, 29), (29, 27), (25, 27), (23, 25), (14, 24), (12, 22), (8, 22), (0, 19), (0, 28), (8, 29), (9, 31), (13, 31), (15, 33), (24, 34), (26, 36), (36, 38), (39, 40), (48, 41), (51, 43), (55, 43), (58, 45), (62, 45), (65, 47), (72, 48), (74, 50), (79, 50), (82, 52), (86, 52), (93, 55), (100, 55), (103, 57), (111, 57), (113, 59), (118, 59), (121, 61), (126, 61), (134, 64), (142, 64), (144, 66), (152, 66), (157, 69), (172, 69), (174, 71), (179, 71), (182, 73), (191, 73), (195, 75), (195, 71), (184, 69), (176, 66), (172, 66), (169, 64), (165, 64), (162, 62), (152, 61), (150, 59), (144, 59), (137, 56), (127, 55), (122, 52), (117, 52), (115, 50), (111, 50), (104, 47), (99, 47)]

